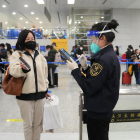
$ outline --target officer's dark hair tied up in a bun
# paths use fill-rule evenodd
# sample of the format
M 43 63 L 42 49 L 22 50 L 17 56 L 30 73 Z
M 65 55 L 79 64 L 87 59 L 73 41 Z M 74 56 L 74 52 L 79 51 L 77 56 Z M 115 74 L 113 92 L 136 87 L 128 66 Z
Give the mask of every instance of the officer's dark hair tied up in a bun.
M 105 25 L 107 26 L 105 27 Z M 94 24 L 90 29 L 90 31 L 102 31 L 104 27 L 105 27 L 104 31 L 111 29 L 116 31 L 117 26 L 119 26 L 118 22 L 115 19 L 112 19 L 109 23 L 100 22 L 98 24 Z M 108 43 L 113 42 L 115 38 L 115 34 L 113 32 L 103 33 L 101 36 L 99 34 L 98 37 L 100 36 L 101 38 L 103 35 L 106 37 Z

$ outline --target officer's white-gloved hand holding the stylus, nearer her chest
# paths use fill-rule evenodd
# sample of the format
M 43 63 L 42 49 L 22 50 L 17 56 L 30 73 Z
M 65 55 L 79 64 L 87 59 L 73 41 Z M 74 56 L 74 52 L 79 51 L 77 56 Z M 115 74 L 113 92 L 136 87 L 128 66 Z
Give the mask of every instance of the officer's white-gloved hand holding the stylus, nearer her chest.
M 88 65 L 87 65 L 87 58 L 85 57 L 85 55 L 84 55 L 84 54 L 82 54 L 82 55 L 77 55 L 77 57 L 78 57 L 78 59 L 79 59 L 79 62 L 80 62 L 80 64 L 81 64 L 82 68 L 83 68 L 84 70 L 86 70 L 87 67 L 88 67 Z

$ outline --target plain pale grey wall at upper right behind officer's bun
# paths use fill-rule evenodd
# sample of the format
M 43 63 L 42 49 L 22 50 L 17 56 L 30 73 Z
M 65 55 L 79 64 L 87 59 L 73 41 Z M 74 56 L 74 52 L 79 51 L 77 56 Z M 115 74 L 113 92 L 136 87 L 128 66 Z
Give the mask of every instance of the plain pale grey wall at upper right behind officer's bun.
M 113 42 L 114 46 L 122 46 L 124 53 L 128 45 L 132 45 L 134 49 L 138 49 L 140 45 L 140 10 L 138 9 L 113 9 L 112 18 L 119 23 L 115 33 L 116 38 Z

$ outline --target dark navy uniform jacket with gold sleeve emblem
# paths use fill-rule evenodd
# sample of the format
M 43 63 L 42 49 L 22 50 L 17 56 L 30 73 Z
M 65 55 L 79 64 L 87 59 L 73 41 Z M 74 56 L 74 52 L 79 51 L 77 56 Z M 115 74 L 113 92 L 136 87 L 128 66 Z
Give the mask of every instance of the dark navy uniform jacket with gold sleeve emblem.
M 118 97 L 120 86 L 120 63 L 109 45 L 94 54 L 91 67 L 83 72 L 77 68 L 72 75 L 84 92 L 84 106 L 93 114 L 93 118 L 105 118 L 112 113 Z

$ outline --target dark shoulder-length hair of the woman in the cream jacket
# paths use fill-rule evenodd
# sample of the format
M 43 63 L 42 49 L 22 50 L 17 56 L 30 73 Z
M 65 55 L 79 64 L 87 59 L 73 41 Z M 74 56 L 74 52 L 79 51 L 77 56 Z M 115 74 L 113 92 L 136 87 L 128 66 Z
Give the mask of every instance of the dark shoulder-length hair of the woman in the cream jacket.
M 20 51 L 25 50 L 24 43 L 25 43 L 25 40 L 26 40 L 29 33 L 32 33 L 33 36 L 34 36 L 34 39 L 35 39 L 35 35 L 31 30 L 21 31 L 21 33 L 19 34 L 19 37 L 18 37 L 18 41 L 16 43 L 16 49 L 15 50 L 20 50 Z M 35 48 L 36 48 L 36 45 L 34 46 L 34 50 L 35 50 Z

